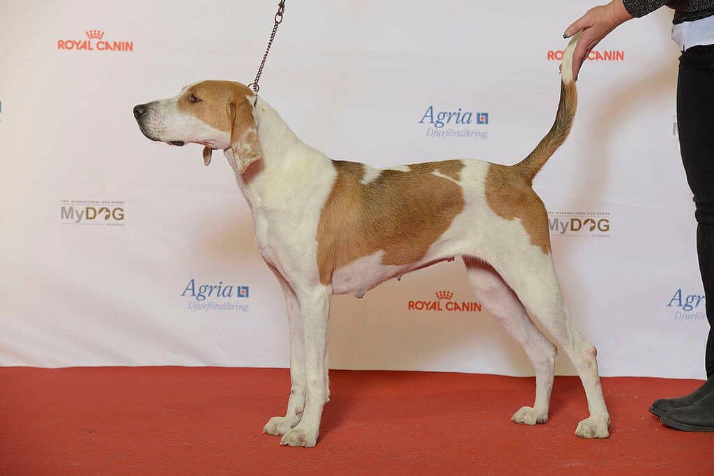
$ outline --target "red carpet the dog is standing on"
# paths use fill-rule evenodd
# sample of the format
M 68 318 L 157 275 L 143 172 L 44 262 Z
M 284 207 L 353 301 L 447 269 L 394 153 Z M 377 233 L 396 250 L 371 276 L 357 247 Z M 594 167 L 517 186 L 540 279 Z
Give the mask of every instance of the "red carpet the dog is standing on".
M 605 378 L 610 439 L 580 440 L 577 378 L 555 379 L 550 422 L 509 418 L 532 378 L 331 372 L 313 449 L 261 430 L 285 410 L 288 371 L 243 368 L 0 368 L 0 474 L 712 475 L 714 433 L 663 427 L 655 397 L 694 380 Z

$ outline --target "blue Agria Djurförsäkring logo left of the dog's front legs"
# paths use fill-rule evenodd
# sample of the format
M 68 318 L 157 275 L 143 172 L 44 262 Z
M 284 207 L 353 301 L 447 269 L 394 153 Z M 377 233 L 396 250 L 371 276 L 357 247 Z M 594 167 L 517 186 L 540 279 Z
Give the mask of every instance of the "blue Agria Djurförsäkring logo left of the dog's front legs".
M 186 308 L 190 310 L 238 310 L 247 313 L 251 289 L 246 285 L 230 283 L 202 284 L 191 278 L 181 291 L 181 297 L 188 299 Z

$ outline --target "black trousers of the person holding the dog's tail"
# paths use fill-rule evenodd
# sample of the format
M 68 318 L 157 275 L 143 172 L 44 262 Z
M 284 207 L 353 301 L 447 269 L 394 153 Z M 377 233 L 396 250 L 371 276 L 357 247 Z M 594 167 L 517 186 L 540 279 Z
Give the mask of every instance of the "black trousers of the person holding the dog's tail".
M 694 194 L 699 269 L 709 320 L 705 365 L 714 374 L 714 45 L 679 59 L 677 124 L 682 161 Z

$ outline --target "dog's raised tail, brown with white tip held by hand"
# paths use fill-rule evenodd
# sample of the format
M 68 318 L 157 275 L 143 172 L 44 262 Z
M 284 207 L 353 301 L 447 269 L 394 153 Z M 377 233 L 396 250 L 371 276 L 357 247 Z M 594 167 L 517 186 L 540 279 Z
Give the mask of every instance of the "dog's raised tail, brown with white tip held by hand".
M 528 180 L 533 180 L 535 174 L 540 171 L 550 156 L 565 142 L 565 138 L 570 133 L 570 127 L 573 126 L 575 109 L 578 106 L 578 92 L 575 91 L 575 81 L 573 80 L 573 50 L 575 50 L 575 44 L 578 43 L 579 37 L 578 33 L 570 40 L 563 54 L 563 63 L 560 64 L 560 102 L 558 102 L 558 112 L 555 113 L 553 126 L 535 146 L 533 152 L 529 153 L 523 161 L 514 165 Z

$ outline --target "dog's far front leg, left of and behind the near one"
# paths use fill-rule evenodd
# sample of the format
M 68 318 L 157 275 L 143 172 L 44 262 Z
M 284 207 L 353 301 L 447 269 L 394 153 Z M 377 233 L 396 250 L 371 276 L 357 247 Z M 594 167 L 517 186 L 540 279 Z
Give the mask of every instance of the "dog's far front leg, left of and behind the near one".
M 285 435 L 300 422 L 305 408 L 305 341 L 298 298 L 286 280 L 277 271 L 274 272 L 283 288 L 290 324 L 290 397 L 285 416 L 272 417 L 263 427 L 263 432 L 269 435 Z

